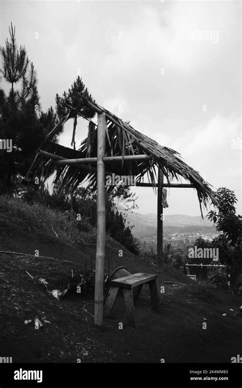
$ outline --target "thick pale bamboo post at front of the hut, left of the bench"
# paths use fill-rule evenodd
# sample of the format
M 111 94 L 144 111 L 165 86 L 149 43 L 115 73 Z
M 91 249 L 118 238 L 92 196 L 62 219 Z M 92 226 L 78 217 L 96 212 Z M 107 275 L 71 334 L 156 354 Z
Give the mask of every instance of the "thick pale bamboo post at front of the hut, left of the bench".
M 104 284 L 104 258 L 105 258 L 105 155 L 106 119 L 105 114 L 98 115 L 98 228 L 96 236 L 96 266 L 95 266 L 95 300 L 94 300 L 94 323 L 103 324 L 103 284 Z

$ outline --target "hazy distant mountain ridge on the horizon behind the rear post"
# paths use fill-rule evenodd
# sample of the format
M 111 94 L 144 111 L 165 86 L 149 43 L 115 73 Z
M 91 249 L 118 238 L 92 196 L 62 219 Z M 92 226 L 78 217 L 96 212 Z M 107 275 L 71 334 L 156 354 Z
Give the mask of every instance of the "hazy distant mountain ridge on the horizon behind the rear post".
M 129 212 L 126 223 L 128 225 L 134 225 L 132 233 L 135 237 L 149 236 L 156 233 L 157 230 L 157 215 L 155 213 L 140 214 L 137 212 Z M 200 215 L 191 216 L 186 214 L 171 214 L 165 215 L 164 221 L 164 233 L 172 233 L 172 231 L 178 231 L 181 227 L 196 226 L 196 230 L 201 227 L 201 230 L 212 231 L 215 228 L 207 218 L 204 220 Z M 173 228 L 174 227 L 174 228 Z M 209 228 L 207 228 L 209 227 Z M 211 229 L 210 229 L 211 228 Z M 190 228 L 185 228 L 184 231 L 189 232 Z M 191 228 L 192 230 L 192 228 Z

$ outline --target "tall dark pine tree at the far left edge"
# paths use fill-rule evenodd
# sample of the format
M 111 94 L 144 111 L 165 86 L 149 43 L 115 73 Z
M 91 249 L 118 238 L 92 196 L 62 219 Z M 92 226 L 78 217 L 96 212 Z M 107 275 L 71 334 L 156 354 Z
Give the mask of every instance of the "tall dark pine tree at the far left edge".
M 16 45 L 15 27 L 9 27 L 10 40 L 2 47 L 0 68 L 3 78 L 10 83 L 9 93 L 0 89 L 0 139 L 11 141 L 9 152 L 0 149 L 0 192 L 11 192 L 19 178 L 30 167 L 35 151 L 44 140 L 44 120 L 55 121 L 53 111 L 37 116 L 40 111 L 37 78 L 34 65 L 30 62 L 25 46 Z M 3 141 L 4 140 L 4 141 Z

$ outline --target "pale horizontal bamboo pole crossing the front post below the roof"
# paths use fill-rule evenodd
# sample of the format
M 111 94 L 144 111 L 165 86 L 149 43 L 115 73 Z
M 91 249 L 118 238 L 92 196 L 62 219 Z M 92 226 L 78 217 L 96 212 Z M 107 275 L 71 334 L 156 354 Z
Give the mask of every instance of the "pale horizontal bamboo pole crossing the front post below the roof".
M 136 161 L 136 160 L 150 160 L 152 159 L 152 155 L 124 155 L 124 156 L 104 156 L 104 162 L 121 162 L 125 161 Z M 97 161 L 97 158 L 77 158 L 77 159 L 61 159 L 57 160 L 57 165 L 62 164 L 79 164 L 79 163 L 94 163 Z

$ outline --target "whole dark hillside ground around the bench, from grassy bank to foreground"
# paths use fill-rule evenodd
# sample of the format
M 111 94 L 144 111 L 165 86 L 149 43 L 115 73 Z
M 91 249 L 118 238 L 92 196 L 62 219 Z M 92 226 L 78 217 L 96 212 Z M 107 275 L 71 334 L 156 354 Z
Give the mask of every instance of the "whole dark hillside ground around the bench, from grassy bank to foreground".
M 38 226 L 36 220 L 27 223 L 24 213 L 20 220 L 12 206 L 9 210 L 6 204 L 0 206 L 0 250 L 33 254 L 38 249 L 39 255 L 55 259 L 0 255 L 1 356 L 12 356 L 13 362 L 160 362 L 161 358 L 165 362 L 230 362 L 241 353 L 242 319 L 234 313 L 242 299 L 227 290 L 200 286 L 171 269 L 164 271 L 164 280 L 182 284 L 165 285 L 160 313 L 151 310 L 148 287 L 144 286 L 135 307 L 136 329 L 126 325 L 122 295 L 103 327 L 95 327 L 93 292 L 67 293 L 61 300 L 47 292 L 65 286 L 71 269 L 74 275 L 83 273 L 86 260 L 90 268 L 92 259 L 94 268 L 93 242 L 87 234 L 76 246 L 68 244 L 64 234 L 60 241 L 51 229 L 45 229 L 44 220 L 43 228 L 42 221 Z M 53 229 L 61 234 L 57 224 Z M 123 257 L 118 256 L 119 249 Z M 126 265 L 131 273 L 155 272 L 148 260 L 141 261 L 110 238 L 106 272 L 108 257 L 110 271 Z M 47 290 L 40 278 L 47 282 Z M 43 325 L 39 329 L 35 329 L 36 318 Z M 123 330 L 118 328 L 120 322 Z

